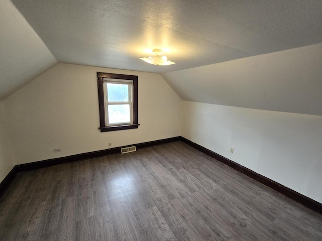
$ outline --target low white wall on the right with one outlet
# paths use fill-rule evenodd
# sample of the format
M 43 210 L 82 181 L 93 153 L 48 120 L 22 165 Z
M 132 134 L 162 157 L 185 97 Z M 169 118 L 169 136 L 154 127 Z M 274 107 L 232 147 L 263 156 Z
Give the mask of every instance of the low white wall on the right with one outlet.
M 183 137 L 322 203 L 322 116 L 190 101 L 182 108 Z

